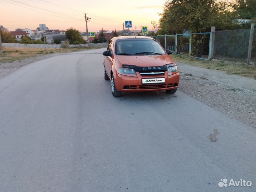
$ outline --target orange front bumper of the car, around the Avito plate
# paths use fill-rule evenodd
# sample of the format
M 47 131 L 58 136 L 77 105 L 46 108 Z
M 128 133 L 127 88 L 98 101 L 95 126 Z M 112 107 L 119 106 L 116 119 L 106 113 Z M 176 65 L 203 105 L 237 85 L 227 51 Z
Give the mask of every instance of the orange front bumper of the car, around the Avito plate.
M 121 75 L 116 73 L 115 85 L 118 91 L 164 91 L 177 89 L 180 81 L 180 73 L 168 76 L 168 71 L 164 75 L 148 75 L 142 76 L 140 73 L 136 72 L 137 77 L 131 77 L 126 75 Z M 142 84 L 142 79 L 144 78 L 165 78 L 164 84 Z

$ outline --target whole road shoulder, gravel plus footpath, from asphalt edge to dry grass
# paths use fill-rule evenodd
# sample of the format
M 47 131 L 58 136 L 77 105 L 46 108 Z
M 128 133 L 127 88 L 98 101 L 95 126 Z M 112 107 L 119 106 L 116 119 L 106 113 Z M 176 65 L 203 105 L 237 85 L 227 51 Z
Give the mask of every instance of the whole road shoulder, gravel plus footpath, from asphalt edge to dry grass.
M 179 90 L 256 128 L 256 80 L 176 62 Z

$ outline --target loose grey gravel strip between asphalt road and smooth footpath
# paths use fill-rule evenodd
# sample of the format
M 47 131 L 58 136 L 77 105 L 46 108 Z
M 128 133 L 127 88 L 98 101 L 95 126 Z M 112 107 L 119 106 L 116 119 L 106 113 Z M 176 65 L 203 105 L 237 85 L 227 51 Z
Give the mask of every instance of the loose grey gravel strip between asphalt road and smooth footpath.
M 256 128 L 256 91 L 207 79 L 200 74 L 180 72 L 178 90 Z

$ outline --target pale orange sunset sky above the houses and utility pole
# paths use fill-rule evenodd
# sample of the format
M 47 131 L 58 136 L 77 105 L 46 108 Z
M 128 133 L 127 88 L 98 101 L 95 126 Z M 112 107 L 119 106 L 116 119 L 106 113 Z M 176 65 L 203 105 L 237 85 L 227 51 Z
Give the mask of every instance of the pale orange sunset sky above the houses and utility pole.
M 85 18 L 90 17 L 90 31 L 122 30 L 123 22 L 132 20 L 131 30 L 141 30 L 148 26 L 152 30 L 151 21 L 159 21 L 165 0 L 0 0 L 0 25 L 9 31 L 16 28 L 39 27 L 46 23 L 49 29 L 66 30 L 73 27 L 85 32 Z

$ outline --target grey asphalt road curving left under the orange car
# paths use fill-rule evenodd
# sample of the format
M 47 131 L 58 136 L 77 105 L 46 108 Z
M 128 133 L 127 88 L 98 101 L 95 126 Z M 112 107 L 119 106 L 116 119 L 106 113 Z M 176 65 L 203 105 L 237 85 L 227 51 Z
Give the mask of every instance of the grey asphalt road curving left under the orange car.
M 256 191 L 254 128 L 180 91 L 114 98 L 103 50 L 0 79 L 1 192 Z

